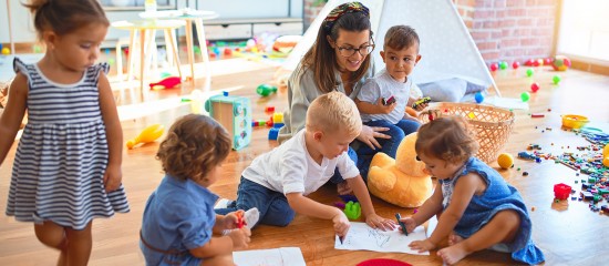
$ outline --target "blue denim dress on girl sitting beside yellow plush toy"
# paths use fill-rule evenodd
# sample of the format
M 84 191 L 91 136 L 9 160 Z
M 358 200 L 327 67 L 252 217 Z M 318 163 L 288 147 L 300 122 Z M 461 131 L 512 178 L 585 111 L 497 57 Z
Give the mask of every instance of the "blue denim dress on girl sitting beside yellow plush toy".
M 467 160 L 465 166 L 452 180 L 438 180 L 444 196 L 444 209 L 451 204 L 451 196 L 456 181 L 468 173 L 479 174 L 486 182 L 486 191 L 474 195 L 454 232 L 463 238 L 472 236 L 488 223 L 495 214 L 504 209 L 514 209 L 520 214 L 520 231 L 514 242 L 505 243 L 512 258 L 527 264 L 539 264 L 545 260 L 541 250 L 530 239 L 531 222 L 520 193 L 507 184 L 503 176 L 476 157 Z

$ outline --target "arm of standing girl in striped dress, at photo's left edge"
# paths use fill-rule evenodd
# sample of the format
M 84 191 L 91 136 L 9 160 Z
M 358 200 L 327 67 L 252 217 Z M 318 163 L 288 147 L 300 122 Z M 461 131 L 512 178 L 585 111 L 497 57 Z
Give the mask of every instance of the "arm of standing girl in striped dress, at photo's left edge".
M 0 116 L 0 165 L 14 142 L 28 101 L 28 78 L 18 73 L 9 89 L 9 102 Z

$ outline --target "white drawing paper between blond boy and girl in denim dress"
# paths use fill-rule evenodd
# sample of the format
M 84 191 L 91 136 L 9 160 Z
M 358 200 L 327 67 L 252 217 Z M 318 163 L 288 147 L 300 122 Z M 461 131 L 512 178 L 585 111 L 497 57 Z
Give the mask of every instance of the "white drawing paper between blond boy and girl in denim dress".
M 372 250 L 381 253 L 409 253 L 415 255 L 430 255 L 429 252 L 419 253 L 412 250 L 409 244 L 413 241 L 425 239 L 425 228 L 419 226 L 414 232 L 404 235 L 398 228 L 394 231 L 383 232 L 373 229 L 365 223 L 351 223 L 351 228 L 344 237 L 343 243 L 340 243 L 339 237 L 334 239 L 334 248 L 348 250 Z

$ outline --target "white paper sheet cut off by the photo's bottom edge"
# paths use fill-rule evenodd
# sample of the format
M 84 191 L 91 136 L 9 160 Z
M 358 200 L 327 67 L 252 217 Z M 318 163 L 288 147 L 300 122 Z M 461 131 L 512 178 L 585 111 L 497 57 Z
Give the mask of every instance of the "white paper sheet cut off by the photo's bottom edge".
M 234 252 L 233 260 L 239 266 L 306 266 L 299 247 L 280 247 Z

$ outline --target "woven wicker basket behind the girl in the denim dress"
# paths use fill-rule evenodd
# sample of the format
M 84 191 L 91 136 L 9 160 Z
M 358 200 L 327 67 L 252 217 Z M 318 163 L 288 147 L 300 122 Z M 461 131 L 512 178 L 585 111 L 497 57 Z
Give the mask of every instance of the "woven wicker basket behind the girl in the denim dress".
M 433 117 L 460 115 L 467 119 L 476 132 L 479 150 L 476 156 L 491 163 L 497 160 L 497 153 L 504 147 L 514 125 L 514 113 L 504 109 L 473 103 L 440 102 L 431 104 L 420 114 L 423 123 Z

